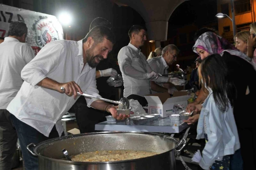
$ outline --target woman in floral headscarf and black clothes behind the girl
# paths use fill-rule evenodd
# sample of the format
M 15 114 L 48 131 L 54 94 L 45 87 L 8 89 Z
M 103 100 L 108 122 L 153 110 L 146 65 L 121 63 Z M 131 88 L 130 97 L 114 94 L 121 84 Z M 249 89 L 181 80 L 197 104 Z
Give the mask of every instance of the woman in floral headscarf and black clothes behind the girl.
M 225 38 L 218 36 L 213 32 L 203 33 L 193 46 L 193 51 L 205 59 L 211 54 L 220 54 L 227 65 L 227 78 L 233 81 L 237 95 L 234 100 L 233 114 L 236 120 L 239 140 L 241 145 L 241 154 L 243 158 L 244 169 L 256 169 L 256 128 L 253 123 L 248 122 L 248 117 L 243 113 L 255 113 L 254 97 L 256 89 L 254 78 L 256 77 L 255 65 L 251 58 L 238 51 Z M 206 99 L 207 93 L 200 91 L 199 96 L 194 103 L 188 105 L 189 111 L 201 110 L 199 104 Z M 231 158 L 232 160 L 232 158 Z M 231 163 L 232 165 L 232 163 Z M 236 166 L 236 165 L 234 165 Z

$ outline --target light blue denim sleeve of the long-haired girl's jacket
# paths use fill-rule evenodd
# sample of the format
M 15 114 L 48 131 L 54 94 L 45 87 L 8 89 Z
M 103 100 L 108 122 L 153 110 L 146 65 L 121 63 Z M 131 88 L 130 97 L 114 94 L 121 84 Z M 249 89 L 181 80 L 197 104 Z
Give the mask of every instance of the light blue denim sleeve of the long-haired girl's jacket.
M 209 130 L 207 130 L 207 132 L 210 132 L 210 134 L 207 133 L 208 142 L 203 149 L 202 159 L 199 163 L 203 169 L 209 169 L 209 167 L 215 162 L 221 147 L 223 147 L 220 141 L 223 138 L 224 123 L 220 114 L 224 113 L 218 109 L 214 101 L 210 103 L 209 108 L 208 115 L 204 116 L 209 117 L 209 122 L 206 122 L 206 124 L 209 124 Z

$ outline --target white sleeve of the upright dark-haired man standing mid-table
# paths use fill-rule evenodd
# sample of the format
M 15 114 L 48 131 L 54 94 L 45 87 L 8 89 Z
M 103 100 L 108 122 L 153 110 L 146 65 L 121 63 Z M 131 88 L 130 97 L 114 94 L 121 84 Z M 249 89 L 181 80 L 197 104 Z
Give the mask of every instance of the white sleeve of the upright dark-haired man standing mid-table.
M 118 53 L 118 64 L 123 74 L 136 78 L 138 80 L 147 80 L 150 78 L 149 73 L 143 73 L 132 66 L 132 54 L 128 48 L 123 48 Z

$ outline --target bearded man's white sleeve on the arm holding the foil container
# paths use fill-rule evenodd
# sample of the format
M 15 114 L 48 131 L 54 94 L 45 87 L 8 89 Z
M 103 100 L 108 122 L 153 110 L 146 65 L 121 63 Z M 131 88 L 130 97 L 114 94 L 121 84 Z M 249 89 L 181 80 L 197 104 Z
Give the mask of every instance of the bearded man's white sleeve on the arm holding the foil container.
M 84 93 L 92 95 L 92 96 L 96 96 L 96 97 L 101 97 L 99 95 L 99 90 L 97 89 L 97 86 L 96 86 L 96 78 L 95 77 L 96 77 L 96 70 L 95 70 L 95 73 L 93 74 L 93 78 L 92 78 L 92 81 L 91 81 L 89 87 L 84 91 Z M 98 100 L 98 99 L 93 99 L 93 98 L 85 96 L 85 100 L 86 100 L 87 106 L 91 107 L 92 102 L 95 100 Z

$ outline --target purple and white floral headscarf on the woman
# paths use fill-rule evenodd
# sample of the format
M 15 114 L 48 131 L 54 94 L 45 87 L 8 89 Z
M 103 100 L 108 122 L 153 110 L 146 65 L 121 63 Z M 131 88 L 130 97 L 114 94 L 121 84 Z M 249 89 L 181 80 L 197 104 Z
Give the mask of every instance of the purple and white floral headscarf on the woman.
M 193 51 L 200 55 L 196 48 L 200 48 L 202 50 L 207 51 L 209 54 L 220 54 L 223 56 L 223 53 L 226 51 L 230 53 L 231 55 L 238 56 L 240 58 L 243 58 L 245 61 L 252 64 L 254 69 L 256 70 L 256 65 L 254 62 L 252 62 L 252 59 L 245 55 L 245 53 L 240 52 L 237 48 L 235 48 L 232 44 L 228 42 L 227 39 L 218 36 L 217 34 L 213 32 L 206 32 L 203 33 L 197 40 L 195 45 L 193 46 Z

